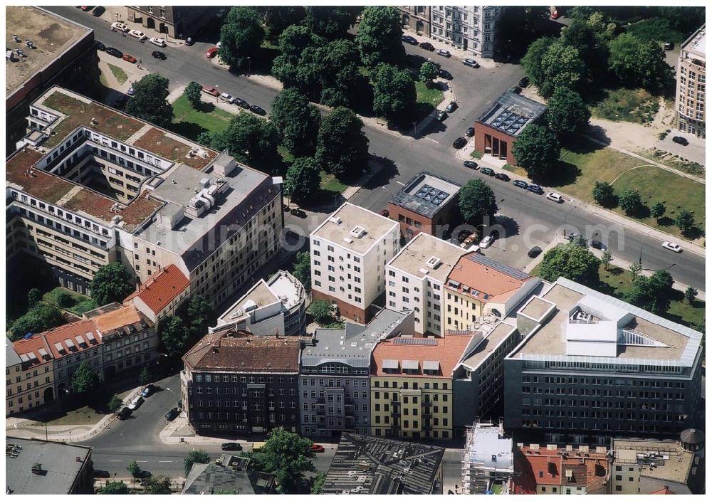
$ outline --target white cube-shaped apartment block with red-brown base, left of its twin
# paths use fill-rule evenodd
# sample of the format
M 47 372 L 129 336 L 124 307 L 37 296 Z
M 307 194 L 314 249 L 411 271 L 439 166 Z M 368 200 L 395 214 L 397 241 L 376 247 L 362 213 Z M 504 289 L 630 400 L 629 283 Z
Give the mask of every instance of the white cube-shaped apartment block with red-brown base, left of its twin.
M 397 221 L 345 203 L 310 235 L 312 297 L 340 315 L 371 320 L 369 306 L 385 292 L 385 267 L 400 250 Z

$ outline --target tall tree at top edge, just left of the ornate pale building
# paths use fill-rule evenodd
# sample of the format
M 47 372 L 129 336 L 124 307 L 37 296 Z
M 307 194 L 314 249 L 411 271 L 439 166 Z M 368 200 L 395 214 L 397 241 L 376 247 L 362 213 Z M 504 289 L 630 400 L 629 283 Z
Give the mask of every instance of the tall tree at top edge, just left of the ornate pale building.
M 363 9 L 356 34 L 362 62 L 373 68 L 378 63 L 402 63 L 405 48 L 401 36 L 401 14 L 393 6 L 368 6 Z

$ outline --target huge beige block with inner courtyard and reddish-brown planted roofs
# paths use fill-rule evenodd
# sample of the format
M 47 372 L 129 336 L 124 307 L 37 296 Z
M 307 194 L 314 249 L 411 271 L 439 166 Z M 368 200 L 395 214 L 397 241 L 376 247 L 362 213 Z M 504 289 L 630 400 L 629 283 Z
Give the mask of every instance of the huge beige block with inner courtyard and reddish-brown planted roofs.
M 175 265 L 217 304 L 278 252 L 270 176 L 147 122 L 53 87 L 30 107 L 6 162 L 6 248 L 89 292 L 118 261 L 145 283 Z

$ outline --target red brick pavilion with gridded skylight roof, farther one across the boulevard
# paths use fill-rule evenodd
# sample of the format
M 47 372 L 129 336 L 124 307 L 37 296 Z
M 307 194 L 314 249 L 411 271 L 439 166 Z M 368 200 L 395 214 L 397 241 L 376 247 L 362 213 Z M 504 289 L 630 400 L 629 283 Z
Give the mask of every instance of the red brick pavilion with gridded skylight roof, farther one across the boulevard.
M 513 146 L 521 132 L 539 122 L 546 106 L 506 90 L 475 120 L 475 149 L 516 165 Z

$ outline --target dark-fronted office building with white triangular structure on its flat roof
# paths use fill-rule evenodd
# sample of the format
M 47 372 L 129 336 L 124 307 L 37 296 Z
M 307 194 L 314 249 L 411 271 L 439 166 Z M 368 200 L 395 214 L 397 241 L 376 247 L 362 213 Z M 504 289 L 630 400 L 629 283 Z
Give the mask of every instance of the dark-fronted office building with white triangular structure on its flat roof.
M 516 316 L 523 341 L 504 361 L 509 431 L 604 445 L 701 422 L 700 332 L 565 278 Z

